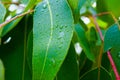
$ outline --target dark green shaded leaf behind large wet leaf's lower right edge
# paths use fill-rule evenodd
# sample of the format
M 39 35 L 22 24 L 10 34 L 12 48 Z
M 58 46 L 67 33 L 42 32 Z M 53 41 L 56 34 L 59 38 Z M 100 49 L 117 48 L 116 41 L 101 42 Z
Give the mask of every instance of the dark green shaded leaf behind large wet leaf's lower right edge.
M 73 44 L 56 78 L 57 80 L 79 80 L 77 56 Z

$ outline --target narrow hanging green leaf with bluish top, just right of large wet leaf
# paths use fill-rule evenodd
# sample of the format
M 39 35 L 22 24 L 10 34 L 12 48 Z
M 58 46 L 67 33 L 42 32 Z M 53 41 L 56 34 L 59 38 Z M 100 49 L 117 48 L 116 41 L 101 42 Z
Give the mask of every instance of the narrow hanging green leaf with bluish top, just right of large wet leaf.
M 75 25 L 75 32 L 78 35 L 80 45 L 83 48 L 87 58 L 91 61 L 95 61 L 95 57 L 90 50 L 89 42 L 87 41 L 87 38 L 85 36 L 85 31 L 80 24 Z

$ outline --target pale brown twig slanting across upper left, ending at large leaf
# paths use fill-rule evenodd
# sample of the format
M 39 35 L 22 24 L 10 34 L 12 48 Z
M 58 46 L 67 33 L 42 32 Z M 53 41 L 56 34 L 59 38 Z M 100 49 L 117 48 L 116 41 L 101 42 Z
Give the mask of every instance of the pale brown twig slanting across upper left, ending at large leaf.
M 28 11 L 28 12 L 22 13 L 22 14 L 20 14 L 20 15 L 17 15 L 17 16 L 15 16 L 15 17 L 11 18 L 10 20 L 7 20 L 7 21 L 3 22 L 2 24 L 0 24 L 0 29 L 1 29 L 2 27 L 4 27 L 5 25 L 7 25 L 8 23 L 12 22 L 13 20 L 16 20 L 17 18 L 20 18 L 20 17 L 22 17 L 22 16 L 24 16 L 24 15 L 26 15 L 26 14 L 30 14 L 30 13 L 32 13 L 32 12 L 34 12 L 34 10 L 30 10 L 30 11 Z

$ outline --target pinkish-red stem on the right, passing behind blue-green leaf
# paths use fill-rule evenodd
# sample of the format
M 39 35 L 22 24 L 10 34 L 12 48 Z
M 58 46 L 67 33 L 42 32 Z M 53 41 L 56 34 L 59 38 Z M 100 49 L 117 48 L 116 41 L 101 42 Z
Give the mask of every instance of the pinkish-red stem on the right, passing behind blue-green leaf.
M 101 30 L 100 30 L 100 28 L 99 28 L 99 25 L 97 24 L 97 21 L 96 21 L 96 17 L 93 16 L 93 19 L 94 19 L 94 23 L 95 23 L 96 29 L 97 29 L 97 31 L 98 31 L 98 33 L 99 33 L 99 35 L 100 35 L 100 38 L 101 38 L 102 42 L 104 42 L 104 38 L 103 38 L 102 32 L 101 32 Z M 114 74 L 115 74 L 115 76 L 116 76 L 116 80 L 120 80 L 120 77 L 119 77 L 119 74 L 118 74 L 116 65 L 115 65 L 115 63 L 114 63 L 114 61 L 113 61 L 113 59 L 112 59 L 112 56 L 111 56 L 111 54 L 110 54 L 110 51 L 107 51 L 107 56 L 108 56 L 108 58 L 109 58 L 109 61 L 110 61 L 110 64 L 111 64 L 111 66 L 112 66 L 112 69 L 113 69 L 113 71 L 114 71 Z

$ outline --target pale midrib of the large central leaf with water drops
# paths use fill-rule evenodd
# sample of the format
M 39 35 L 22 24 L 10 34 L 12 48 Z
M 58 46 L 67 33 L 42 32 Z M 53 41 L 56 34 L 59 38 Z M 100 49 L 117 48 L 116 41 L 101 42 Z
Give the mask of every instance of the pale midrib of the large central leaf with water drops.
M 52 40 L 52 35 L 53 35 L 53 16 L 52 16 L 52 10 L 51 10 L 51 7 L 50 7 L 50 3 L 49 3 L 49 0 L 45 0 L 47 2 L 47 6 L 48 6 L 48 11 L 50 13 L 50 38 L 49 38 L 49 41 L 48 41 L 48 44 L 47 44 L 47 49 L 46 49 L 46 52 L 45 52 L 45 58 L 44 58 L 44 62 L 43 62 L 43 67 L 42 67 L 42 71 L 41 71 L 41 76 L 40 76 L 40 80 L 42 79 L 42 75 L 43 75 L 43 72 L 44 72 L 44 68 L 45 68 L 45 63 L 46 63 L 46 59 L 47 59 L 47 55 L 48 55 L 48 50 L 49 50 L 49 46 L 50 46 L 50 43 L 51 43 L 51 40 Z

